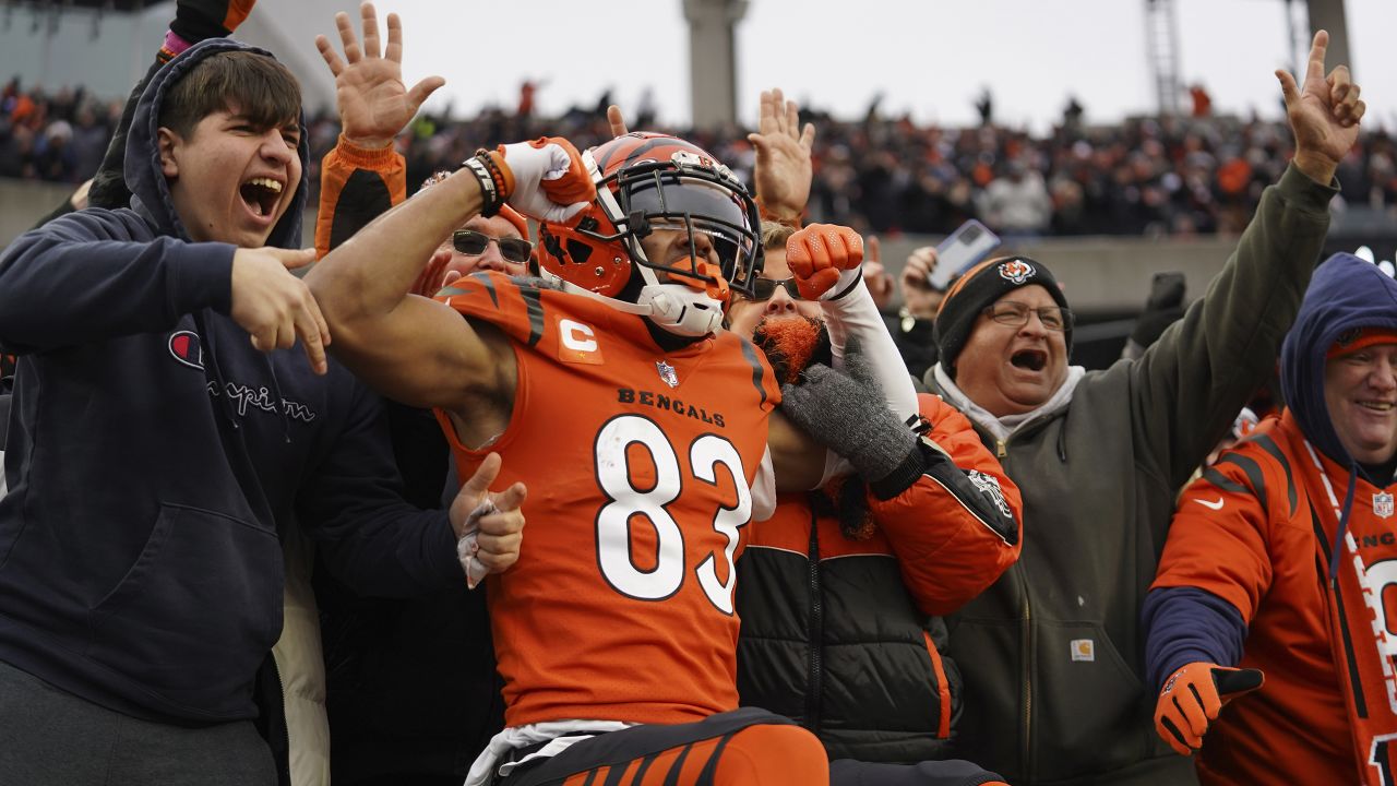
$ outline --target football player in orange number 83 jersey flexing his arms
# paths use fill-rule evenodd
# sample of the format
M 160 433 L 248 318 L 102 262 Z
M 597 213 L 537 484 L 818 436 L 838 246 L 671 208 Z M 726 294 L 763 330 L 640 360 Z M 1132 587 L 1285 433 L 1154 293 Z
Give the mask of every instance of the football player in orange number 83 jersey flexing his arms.
M 451 229 L 506 203 L 543 222 L 550 284 L 485 271 L 439 301 L 408 294 Z M 307 277 L 339 357 L 437 408 L 462 471 L 489 446 L 538 484 L 539 531 L 489 587 L 509 727 L 471 783 L 595 768 L 826 782 L 813 736 L 735 710 L 733 559 L 771 506 L 759 467 L 770 452 L 791 488 L 824 470 L 824 450 L 773 417 L 766 361 L 715 333 L 729 292 L 752 292 L 757 227 L 742 185 L 683 140 L 631 134 L 583 157 L 549 138 L 482 151 Z M 826 271 L 826 295 L 861 281 L 856 262 Z

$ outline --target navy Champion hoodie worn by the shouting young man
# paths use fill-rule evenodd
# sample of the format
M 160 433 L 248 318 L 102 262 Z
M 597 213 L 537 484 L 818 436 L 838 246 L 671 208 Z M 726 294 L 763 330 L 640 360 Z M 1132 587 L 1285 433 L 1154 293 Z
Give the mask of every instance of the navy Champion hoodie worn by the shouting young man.
M 257 715 L 289 530 L 366 594 L 461 580 L 446 515 L 401 501 L 381 400 L 334 361 L 312 373 L 299 344 L 253 350 L 228 316 L 236 249 L 191 243 L 175 213 L 159 106 L 232 49 L 251 48 L 211 39 L 151 78 L 127 140 L 129 208 L 64 215 L 0 256 L 0 344 L 20 354 L 0 660 L 189 726 Z M 299 246 L 306 190 L 268 245 Z

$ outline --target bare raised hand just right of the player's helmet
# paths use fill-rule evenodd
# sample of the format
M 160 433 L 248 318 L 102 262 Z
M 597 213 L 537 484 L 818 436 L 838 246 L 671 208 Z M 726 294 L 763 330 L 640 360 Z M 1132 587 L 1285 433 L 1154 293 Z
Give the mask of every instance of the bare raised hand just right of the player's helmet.
M 800 129 L 799 108 L 785 99 L 781 88 L 764 90 L 757 133 L 747 134 L 747 141 L 757 150 L 752 179 L 763 217 L 784 224 L 798 222 L 810 200 L 810 182 L 814 179 L 810 164 L 814 126 L 806 123 Z

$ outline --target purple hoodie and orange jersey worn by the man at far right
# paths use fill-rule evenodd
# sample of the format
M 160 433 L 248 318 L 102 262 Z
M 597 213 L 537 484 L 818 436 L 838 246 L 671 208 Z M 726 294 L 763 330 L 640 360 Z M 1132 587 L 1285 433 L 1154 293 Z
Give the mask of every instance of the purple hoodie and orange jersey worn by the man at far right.
M 1393 478 L 1344 449 L 1324 400 L 1326 354 L 1359 327 L 1397 330 L 1397 281 L 1336 255 L 1281 350 L 1288 410 L 1204 470 L 1179 501 L 1144 606 L 1150 684 L 1217 663 L 1266 684 L 1229 703 L 1199 757 L 1204 782 L 1389 783 L 1397 677 Z M 1303 719 L 1298 729 L 1295 719 Z M 1289 744 L 1287 744 L 1289 743 Z

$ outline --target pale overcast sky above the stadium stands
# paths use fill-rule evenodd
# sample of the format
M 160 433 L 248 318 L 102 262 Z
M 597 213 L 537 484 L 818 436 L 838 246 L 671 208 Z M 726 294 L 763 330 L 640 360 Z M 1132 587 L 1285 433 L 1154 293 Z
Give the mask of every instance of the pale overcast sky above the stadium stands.
M 1347 0 L 1350 52 L 1369 117 L 1397 126 L 1397 0 Z M 346 3 L 348 6 L 348 3 Z M 380 0 L 407 28 L 407 76 L 437 73 L 433 106 L 513 108 L 524 78 L 545 80 L 539 109 L 591 106 L 606 88 L 634 108 L 645 88 L 665 122 L 689 119 L 689 38 L 680 0 Z M 1299 36 L 1303 0 L 1295 3 Z M 1180 74 L 1203 83 L 1220 112 L 1280 115 L 1271 71 L 1303 63 L 1287 48 L 1282 0 L 1176 0 Z M 258 13 L 271 10 L 258 6 Z M 443 10 L 458 22 L 444 24 Z M 483 35 L 467 35 L 475 20 Z M 541 20 L 546 20 L 541 21 Z M 536 32 L 532 32 L 536 31 Z M 559 31 L 570 31 L 564 38 Z M 511 32 L 514 35 L 502 35 Z M 514 41 L 513 48 L 506 41 Z M 1088 122 L 1153 112 L 1144 0 L 752 0 L 738 32 L 739 112 L 780 85 L 803 102 L 861 116 L 883 109 L 967 124 L 982 87 L 996 117 L 1042 129 L 1069 94 Z

